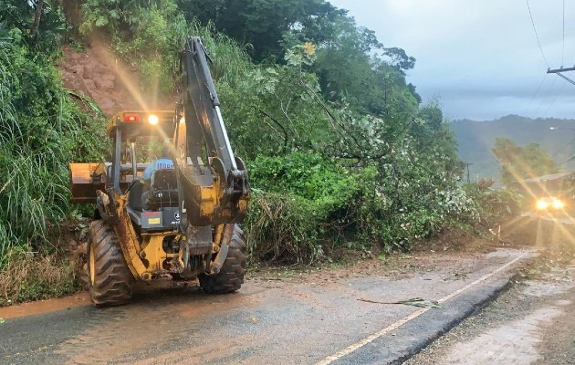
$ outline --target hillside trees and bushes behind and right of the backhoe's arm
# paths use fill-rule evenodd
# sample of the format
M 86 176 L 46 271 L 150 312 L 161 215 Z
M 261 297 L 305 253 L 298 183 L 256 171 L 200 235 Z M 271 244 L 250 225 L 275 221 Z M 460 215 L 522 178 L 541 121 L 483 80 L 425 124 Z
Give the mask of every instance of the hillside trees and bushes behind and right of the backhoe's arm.
M 204 36 L 255 188 L 253 258 L 312 262 L 333 245 L 407 249 L 474 215 L 456 184 L 453 135 L 439 107 L 420 105 L 405 82 L 414 59 L 402 49 L 324 1 L 163 3 L 87 1 L 79 29 L 141 57 L 134 64 L 166 90 L 174 61 L 162 55 L 175 55 L 186 34 Z

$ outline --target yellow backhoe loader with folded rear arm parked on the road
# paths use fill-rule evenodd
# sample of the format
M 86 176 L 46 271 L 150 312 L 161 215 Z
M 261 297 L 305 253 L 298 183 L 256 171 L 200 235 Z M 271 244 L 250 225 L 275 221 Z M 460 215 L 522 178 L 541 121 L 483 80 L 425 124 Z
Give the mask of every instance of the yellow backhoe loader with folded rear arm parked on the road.
M 228 141 L 208 59 L 202 40 L 188 36 L 175 111 L 120 111 L 107 125 L 111 161 L 70 164 L 72 203 L 96 204 L 88 250 L 96 306 L 126 303 L 136 280 L 197 277 L 207 293 L 244 282 L 246 165 Z M 143 179 L 164 144 L 173 166 Z

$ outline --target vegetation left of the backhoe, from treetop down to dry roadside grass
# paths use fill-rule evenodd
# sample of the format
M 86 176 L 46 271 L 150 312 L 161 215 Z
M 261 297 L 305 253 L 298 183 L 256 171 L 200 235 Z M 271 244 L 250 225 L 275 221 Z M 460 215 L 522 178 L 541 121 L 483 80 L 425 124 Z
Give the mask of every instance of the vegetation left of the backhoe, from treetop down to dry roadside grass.
M 76 290 L 58 250 L 70 213 L 68 162 L 100 158 L 99 120 L 62 88 L 57 7 L 0 1 L 0 305 Z

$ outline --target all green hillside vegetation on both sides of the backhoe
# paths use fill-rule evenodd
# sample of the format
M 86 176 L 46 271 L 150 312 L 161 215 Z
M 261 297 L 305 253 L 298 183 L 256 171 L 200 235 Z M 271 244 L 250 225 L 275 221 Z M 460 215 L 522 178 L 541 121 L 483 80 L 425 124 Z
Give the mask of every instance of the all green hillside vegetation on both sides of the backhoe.
M 0 257 L 46 241 L 69 213 L 68 162 L 101 152 L 98 120 L 70 101 L 53 66 L 71 36 L 104 39 L 146 75 L 143 87 L 162 92 L 176 88 L 183 37 L 204 37 L 231 141 L 250 172 L 253 260 L 406 250 L 479 218 L 457 183 L 461 164 L 441 109 L 422 105 L 405 81 L 415 59 L 384 47 L 345 10 L 324 0 L 80 3 L 0 0 L 8 9 L 0 17 Z

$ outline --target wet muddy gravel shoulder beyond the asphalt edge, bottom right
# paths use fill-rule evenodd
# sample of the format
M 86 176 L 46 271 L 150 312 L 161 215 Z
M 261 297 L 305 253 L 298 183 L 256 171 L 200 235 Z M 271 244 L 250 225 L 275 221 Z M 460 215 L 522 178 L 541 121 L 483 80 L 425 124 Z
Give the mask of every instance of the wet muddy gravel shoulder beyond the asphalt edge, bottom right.
M 575 263 L 545 264 L 404 364 L 574 364 Z

